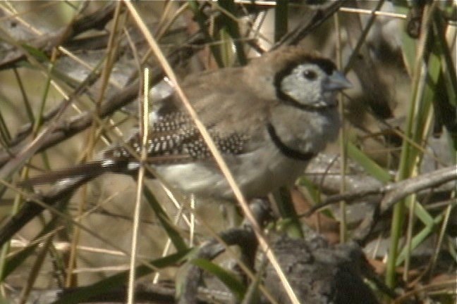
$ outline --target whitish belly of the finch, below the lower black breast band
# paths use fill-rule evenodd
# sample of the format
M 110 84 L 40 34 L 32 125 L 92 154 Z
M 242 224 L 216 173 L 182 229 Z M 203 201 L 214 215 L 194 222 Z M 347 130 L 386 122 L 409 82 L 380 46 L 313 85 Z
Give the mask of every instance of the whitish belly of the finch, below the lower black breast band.
M 286 158 L 274 147 L 226 158 L 227 165 L 246 198 L 266 196 L 279 186 L 291 184 L 303 173 L 307 162 Z M 233 191 L 217 165 L 198 162 L 158 166 L 157 172 L 171 186 L 186 194 L 232 199 Z

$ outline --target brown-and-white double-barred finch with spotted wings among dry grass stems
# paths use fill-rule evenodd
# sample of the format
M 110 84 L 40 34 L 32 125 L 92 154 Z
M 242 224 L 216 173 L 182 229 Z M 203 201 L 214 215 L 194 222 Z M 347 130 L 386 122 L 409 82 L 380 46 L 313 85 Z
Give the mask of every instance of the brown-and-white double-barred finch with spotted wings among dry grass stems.
M 293 182 L 307 161 L 339 130 L 336 92 L 351 84 L 334 63 L 298 46 L 288 46 L 238 68 L 191 75 L 182 87 L 224 156 L 246 197 L 265 196 Z M 148 163 L 171 186 L 204 196 L 231 198 L 232 191 L 200 132 L 178 97 L 152 115 Z M 30 179 L 30 184 L 130 173 L 140 151 L 134 135 L 100 160 Z

